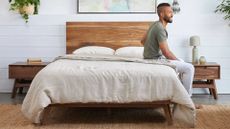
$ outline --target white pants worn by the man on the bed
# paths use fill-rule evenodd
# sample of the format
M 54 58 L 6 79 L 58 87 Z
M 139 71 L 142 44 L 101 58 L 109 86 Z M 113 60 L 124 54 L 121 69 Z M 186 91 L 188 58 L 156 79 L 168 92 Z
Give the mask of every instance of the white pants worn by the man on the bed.
M 170 60 L 170 62 L 176 66 L 177 72 L 179 72 L 180 80 L 188 91 L 189 95 L 192 96 L 192 82 L 194 77 L 194 66 L 190 63 L 179 60 Z

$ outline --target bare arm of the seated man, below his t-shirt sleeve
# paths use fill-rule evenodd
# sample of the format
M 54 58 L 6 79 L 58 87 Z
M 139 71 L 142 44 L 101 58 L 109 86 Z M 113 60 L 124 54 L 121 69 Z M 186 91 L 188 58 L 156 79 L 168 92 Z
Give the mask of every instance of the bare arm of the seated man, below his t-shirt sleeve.
M 167 43 L 166 41 L 165 41 L 165 42 L 159 43 L 159 48 L 161 49 L 162 54 L 163 54 L 167 59 L 170 59 L 170 60 L 178 60 L 178 59 L 176 58 L 176 56 L 169 50 L 168 43 Z

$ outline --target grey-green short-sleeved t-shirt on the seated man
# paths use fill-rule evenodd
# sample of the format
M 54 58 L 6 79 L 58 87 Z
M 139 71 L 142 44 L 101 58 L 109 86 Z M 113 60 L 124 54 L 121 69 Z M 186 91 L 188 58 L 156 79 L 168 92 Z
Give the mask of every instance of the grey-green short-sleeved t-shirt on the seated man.
M 145 59 L 158 59 L 161 58 L 162 52 L 159 48 L 159 44 L 168 39 L 168 32 L 163 27 L 160 21 L 154 22 L 150 27 L 146 35 L 144 44 L 144 58 Z

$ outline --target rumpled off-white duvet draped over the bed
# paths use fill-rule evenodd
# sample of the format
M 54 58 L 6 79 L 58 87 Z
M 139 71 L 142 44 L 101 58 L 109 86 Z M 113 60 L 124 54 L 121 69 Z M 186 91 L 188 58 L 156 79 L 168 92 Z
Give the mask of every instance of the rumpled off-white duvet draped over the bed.
M 67 55 L 42 69 L 22 104 L 23 114 L 40 123 L 45 107 L 74 102 L 151 102 L 171 100 L 173 115 L 190 127 L 194 104 L 167 61 Z

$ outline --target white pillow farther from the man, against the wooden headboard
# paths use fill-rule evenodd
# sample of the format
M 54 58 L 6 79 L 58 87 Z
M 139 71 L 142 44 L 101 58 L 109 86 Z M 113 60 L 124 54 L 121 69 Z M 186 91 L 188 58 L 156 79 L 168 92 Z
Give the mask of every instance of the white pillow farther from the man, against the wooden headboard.
M 114 55 L 115 50 L 109 47 L 87 46 L 73 51 L 73 54 Z

